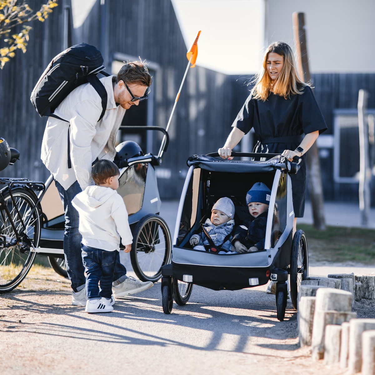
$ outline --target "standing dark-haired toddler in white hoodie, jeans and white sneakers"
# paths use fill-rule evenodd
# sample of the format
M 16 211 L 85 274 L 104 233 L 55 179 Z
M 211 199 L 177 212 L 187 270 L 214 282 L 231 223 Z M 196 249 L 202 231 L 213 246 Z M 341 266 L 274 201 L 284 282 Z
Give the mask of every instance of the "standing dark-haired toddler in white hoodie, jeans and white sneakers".
M 117 193 L 120 172 L 110 160 L 99 160 L 92 168 L 95 186 L 88 186 L 72 201 L 80 215 L 82 259 L 86 270 L 86 312 L 113 311 L 113 270 L 120 237 L 124 252 L 131 250 L 133 236 L 123 199 Z M 100 288 L 99 291 L 99 282 Z

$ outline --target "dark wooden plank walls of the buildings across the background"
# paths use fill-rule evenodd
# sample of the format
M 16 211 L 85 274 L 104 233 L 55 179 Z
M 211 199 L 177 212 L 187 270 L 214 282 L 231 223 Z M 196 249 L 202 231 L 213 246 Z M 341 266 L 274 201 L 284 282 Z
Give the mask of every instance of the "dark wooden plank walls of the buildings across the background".
M 40 2 L 28 1 L 33 9 Z M 59 3 L 45 23 L 32 24 L 26 54 L 17 51 L 16 57 L 0 71 L 0 135 L 21 151 L 21 160 L 0 172 L 1 176 L 46 180 L 49 175 L 40 160 L 46 119 L 39 117 L 29 98 L 49 61 L 63 48 L 63 8 L 70 6 L 70 0 Z M 103 10 L 107 12 L 106 22 L 101 22 L 105 16 Z M 101 48 L 108 71 L 115 52 L 141 56 L 159 64 L 152 86 L 153 124 L 166 126 L 187 64 L 186 45 L 170 0 L 106 0 L 106 9 L 98 0 L 83 25 L 72 30 L 72 44 L 80 42 Z M 375 74 L 313 74 L 312 78 L 315 96 L 329 127 L 327 134 L 333 132 L 333 110 L 356 108 L 360 88 L 369 90 L 369 107 L 375 107 Z M 171 178 L 158 181 L 163 198 L 180 196 L 187 157 L 216 151 L 223 144 L 248 96 L 245 83 L 249 79 L 201 67 L 189 70 L 162 166 L 171 170 Z M 160 137 L 155 136 L 155 152 L 159 142 Z M 333 157 L 322 159 L 321 165 L 326 199 L 355 201 L 357 184 L 333 182 Z

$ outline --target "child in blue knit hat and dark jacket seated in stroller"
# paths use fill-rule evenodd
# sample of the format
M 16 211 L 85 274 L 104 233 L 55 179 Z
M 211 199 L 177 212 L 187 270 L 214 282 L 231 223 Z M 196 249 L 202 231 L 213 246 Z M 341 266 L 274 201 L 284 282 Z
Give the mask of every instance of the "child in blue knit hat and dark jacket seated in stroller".
M 270 199 L 271 190 L 263 182 L 256 182 L 246 193 L 246 204 L 251 216 L 234 233 L 232 244 L 237 253 L 264 249 Z

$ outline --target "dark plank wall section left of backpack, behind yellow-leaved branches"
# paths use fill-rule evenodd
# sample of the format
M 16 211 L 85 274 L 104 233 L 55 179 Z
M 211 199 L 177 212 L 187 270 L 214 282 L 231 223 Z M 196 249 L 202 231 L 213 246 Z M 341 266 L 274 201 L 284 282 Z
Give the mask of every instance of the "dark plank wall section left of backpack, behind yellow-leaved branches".
M 31 9 L 40 0 L 28 0 Z M 0 71 L 0 134 L 10 147 L 17 148 L 20 160 L 0 172 L 2 177 L 27 177 L 46 180 L 49 172 L 40 160 L 40 148 L 46 118 L 40 118 L 30 101 L 31 92 L 52 58 L 63 48 L 63 7 L 70 1 L 59 1 L 44 23 L 31 24 L 25 54 L 20 49 Z

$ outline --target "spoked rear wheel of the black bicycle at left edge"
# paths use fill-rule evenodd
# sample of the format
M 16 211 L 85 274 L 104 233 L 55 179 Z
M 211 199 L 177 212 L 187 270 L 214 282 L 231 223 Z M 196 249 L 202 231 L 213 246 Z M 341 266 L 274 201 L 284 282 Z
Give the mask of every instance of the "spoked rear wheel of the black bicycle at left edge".
M 40 205 L 31 213 L 37 202 L 37 197 L 33 191 L 24 188 L 12 189 L 12 195 L 15 203 L 10 198 L 9 191 L 3 193 L 10 217 L 7 216 L 5 208 L 1 209 L 0 234 L 9 237 L 7 242 L 8 240 L 10 242 L 17 240 L 11 225 L 12 220 L 17 231 L 26 234 L 31 244 L 37 247 L 40 239 L 42 217 Z M 22 225 L 16 207 L 26 225 L 26 229 Z M 24 251 L 22 246 L 22 243 L 15 243 L 13 246 L 0 249 L 0 293 L 16 288 L 33 265 L 36 253 Z

